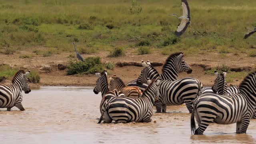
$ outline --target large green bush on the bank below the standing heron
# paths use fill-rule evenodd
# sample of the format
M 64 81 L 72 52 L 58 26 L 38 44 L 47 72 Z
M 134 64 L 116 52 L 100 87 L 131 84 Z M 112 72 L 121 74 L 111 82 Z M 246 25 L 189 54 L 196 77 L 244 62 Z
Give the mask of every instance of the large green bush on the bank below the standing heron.
M 88 57 L 83 62 L 71 62 L 70 65 L 67 66 L 66 74 L 94 74 L 95 70 L 99 72 L 104 70 L 100 57 Z

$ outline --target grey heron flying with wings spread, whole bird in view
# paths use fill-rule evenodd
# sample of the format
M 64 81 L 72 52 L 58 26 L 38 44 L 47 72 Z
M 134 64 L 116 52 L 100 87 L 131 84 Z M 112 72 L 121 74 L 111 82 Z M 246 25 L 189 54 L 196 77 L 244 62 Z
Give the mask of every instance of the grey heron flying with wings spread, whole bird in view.
M 171 16 L 176 16 L 178 19 L 181 19 L 180 25 L 174 32 L 176 36 L 181 36 L 190 24 L 190 9 L 187 0 L 181 0 L 181 6 L 183 11 L 182 16 L 178 17 L 177 14 L 170 14 Z

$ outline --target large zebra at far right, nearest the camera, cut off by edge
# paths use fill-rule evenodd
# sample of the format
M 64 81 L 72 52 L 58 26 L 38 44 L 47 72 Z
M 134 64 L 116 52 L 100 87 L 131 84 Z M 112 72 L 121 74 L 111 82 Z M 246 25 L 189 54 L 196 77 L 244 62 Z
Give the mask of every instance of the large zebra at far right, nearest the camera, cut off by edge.
M 228 96 L 203 94 L 194 100 L 193 105 L 194 109 L 190 119 L 193 134 L 203 134 L 211 122 L 236 123 L 236 133 L 246 133 L 256 106 L 256 71 L 244 78 L 238 93 Z M 198 122 L 197 129 L 194 117 Z

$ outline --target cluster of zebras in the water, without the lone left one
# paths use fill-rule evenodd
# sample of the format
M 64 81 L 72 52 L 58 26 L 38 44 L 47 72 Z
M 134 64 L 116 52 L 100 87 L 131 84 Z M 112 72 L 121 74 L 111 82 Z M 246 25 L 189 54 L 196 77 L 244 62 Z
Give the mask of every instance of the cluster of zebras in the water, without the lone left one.
M 166 112 L 167 105 L 185 104 L 192 113 L 193 134 L 203 134 L 212 122 L 236 123 L 236 132 L 246 133 L 250 119 L 256 118 L 256 72 L 246 76 L 239 87 L 228 87 L 227 73 L 215 71 L 213 86 L 203 87 L 196 78 L 177 80 L 179 72 L 192 72 L 183 55 L 183 52 L 171 54 L 162 67 L 162 74 L 150 64 L 144 64 L 138 79 L 126 85 L 115 75 L 108 77 L 106 71 L 96 74 L 98 79 L 93 91 L 102 94 L 98 123 L 150 122 L 154 105 L 156 112 L 161 113 Z

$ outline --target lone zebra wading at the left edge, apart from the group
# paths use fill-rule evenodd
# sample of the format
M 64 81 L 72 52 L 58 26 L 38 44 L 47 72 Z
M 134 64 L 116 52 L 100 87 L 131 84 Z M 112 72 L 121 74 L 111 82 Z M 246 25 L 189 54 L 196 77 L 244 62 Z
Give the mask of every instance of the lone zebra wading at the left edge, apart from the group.
M 29 73 L 19 70 L 13 76 L 12 84 L 0 84 L 0 108 L 7 108 L 7 111 L 11 111 L 11 108 L 16 106 L 21 111 L 25 110 L 21 104 L 23 100 L 22 90 L 25 94 L 31 92 L 27 78 Z

